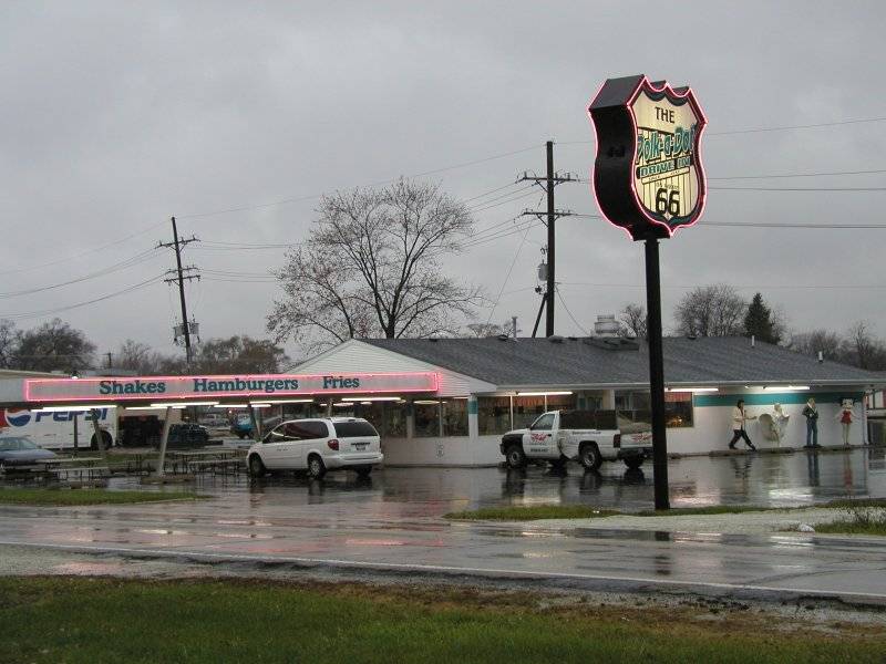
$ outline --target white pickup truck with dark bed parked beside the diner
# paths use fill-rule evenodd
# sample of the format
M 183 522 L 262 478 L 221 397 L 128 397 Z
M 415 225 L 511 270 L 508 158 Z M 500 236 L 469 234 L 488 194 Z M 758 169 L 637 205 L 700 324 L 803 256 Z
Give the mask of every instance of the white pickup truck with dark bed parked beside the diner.
M 571 459 L 587 470 L 615 460 L 635 469 L 652 457 L 651 437 L 622 439 L 618 429 L 597 428 L 598 424 L 591 411 L 552 411 L 539 415 L 529 428 L 506 433 L 499 449 L 509 468 L 523 468 L 535 459 L 563 466 Z

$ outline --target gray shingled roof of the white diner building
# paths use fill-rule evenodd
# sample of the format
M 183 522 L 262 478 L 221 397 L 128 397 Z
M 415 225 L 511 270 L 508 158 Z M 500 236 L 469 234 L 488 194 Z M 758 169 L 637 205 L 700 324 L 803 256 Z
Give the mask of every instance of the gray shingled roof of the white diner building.
M 624 385 L 649 382 L 649 353 L 599 347 L 588 339 L 367 339 L 365 343 L 495 385 Z M 886 384 L 886 374 L 820 363 L 745 338 L 666 338 L 669 384 Z

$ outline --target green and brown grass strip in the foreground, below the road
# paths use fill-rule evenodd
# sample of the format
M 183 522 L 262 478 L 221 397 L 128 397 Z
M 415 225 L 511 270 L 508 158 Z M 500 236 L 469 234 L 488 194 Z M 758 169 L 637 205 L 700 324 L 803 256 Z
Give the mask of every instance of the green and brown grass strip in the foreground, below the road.
M 810 664 L 882 662 L 886 652 L 875 626 L 823 632 L 746 610 L 545 606 L 529 593 L 257 580 L 6 578 L 0 624 L 0 661 L 38 664 Z

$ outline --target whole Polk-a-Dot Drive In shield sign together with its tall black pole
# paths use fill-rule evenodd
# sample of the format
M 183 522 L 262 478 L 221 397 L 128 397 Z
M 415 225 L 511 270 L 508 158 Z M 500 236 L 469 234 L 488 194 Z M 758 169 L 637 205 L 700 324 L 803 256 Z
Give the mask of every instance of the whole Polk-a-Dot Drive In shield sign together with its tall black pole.
M 591 179 L 597 205 L 610 224 L 646 243 L 656 509 L 669 509 L 658 241 L 692 226 L 704 211 L 700 143 L 708 121 L 692 90 L 643 75 L 607 80 L 588 113 L 597 134 Z

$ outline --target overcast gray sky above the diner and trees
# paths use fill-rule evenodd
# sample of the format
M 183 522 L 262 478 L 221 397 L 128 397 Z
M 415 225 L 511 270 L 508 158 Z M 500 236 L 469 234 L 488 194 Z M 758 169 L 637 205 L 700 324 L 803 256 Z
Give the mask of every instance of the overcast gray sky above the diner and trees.
M 171 239 L 176 215 L 184 236 L 204 240 L 185 252 L 204 271 L 187 291 L 202 335 L 265 335 L 277 288 L 243 273 L 277 268 L 284 249 L 222 243 L 297 241 L 317 194 L 529 148 L 426 176 L 473 198 L 543 172 L 548 138 L 556 168 L 587 178 L 586 107 L 611 76 L 693 86 L 710 178 L 886 169 L 886 122 L 717 135 L 886 117 L 885 19 L 883 2 L 833 1 L 6 2 L 0 290 L 107 272 L 3 297 L 0 318 L 30 328 L 58 315 L 100 351 L 126 338 L 172 351 L 177 294 L 162 282 L 62 309 L 171 268 L 172 253 L 152 248 Z M 687 289 L 727 282 L 749 298 L 760 290 L 797 331 L 866 319 L 886 334 L 886 229 L 705 227 L 884 222 L 886 191 L 713 187 L 880 187 L 886 173 L 709 184 L 701 222 L 662 243 L 666 326 Z M 542 191 L 512 200 L 523 194 L 472 200 L 478 231 Z M 584 183 L 558 187 L 557 205 L 597 212 Z M 545 229 L 523 238 L 481 243 L 447 267 L 493 297 L 504 290 L 492 320 L 518 315 L 528 334 Z M 567 218 L 557 242 L 562 293 L 581 326 L 643 301 L 642 247 L 622 231 Z M 581 333 L 562 307 L 557 332 Z

